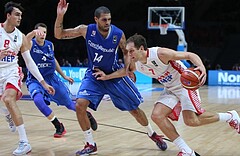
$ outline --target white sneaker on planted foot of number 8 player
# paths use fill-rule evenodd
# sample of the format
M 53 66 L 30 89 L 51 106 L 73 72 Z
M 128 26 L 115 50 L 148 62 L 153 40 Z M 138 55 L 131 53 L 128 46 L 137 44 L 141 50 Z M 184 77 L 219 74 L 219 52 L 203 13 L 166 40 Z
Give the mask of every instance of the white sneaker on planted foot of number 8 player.
M 28 142 L 25 141 L 19 141 L 18 148 L 13 151 L 13 155 L 26 155 L 30 153 L 32 150 L 31 145 Z

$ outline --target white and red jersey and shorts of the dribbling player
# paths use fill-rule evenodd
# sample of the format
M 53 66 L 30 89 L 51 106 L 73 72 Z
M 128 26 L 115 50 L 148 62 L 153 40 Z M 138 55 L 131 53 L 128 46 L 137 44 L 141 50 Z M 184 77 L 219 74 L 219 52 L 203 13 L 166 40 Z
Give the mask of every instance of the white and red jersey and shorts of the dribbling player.
M 136 69 L 164 85 L 158 101 L 172 109 L 168 116 L 172 120 L 178 120 L 181 110 L 190 110 L 202 114 L 201 99 L 198 90 L 191 91 L 182 87 L 180 76 L 187 67 L 181 61 L 169 61 L 164 64 L 157 55 L 159 47 L 147 50 L 147 63 L 136 62 Z

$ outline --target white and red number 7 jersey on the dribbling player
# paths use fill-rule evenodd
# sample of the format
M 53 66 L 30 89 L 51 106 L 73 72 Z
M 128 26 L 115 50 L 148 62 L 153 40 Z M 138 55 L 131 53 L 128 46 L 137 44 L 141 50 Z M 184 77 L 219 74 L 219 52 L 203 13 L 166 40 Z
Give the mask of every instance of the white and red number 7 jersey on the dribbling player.
M 158 58 L 158 48 L 160 47 L 149 48 L 147 50 L 147 63 L 136 62 L 136 70 L 157 79 L 170 91 L 182 88 L 180 73 L 187 67 L 181 61 L 169 61 L 168 64 L 164 64 Z

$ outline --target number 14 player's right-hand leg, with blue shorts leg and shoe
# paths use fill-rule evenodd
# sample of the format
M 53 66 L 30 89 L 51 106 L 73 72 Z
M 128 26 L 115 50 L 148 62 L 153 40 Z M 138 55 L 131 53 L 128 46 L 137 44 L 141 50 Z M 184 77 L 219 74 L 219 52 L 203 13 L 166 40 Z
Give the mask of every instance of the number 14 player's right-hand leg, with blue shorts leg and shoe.
M 109 95 L 115 107 L 122 111 L 129 111 L 131 115 L 144 126 L 148 136 L 157 144 L 161 150 L 166 150 L 167 145 L 161 136 L 157 135 L 152 129 L 145 113 L 139 109 L 139 105 L 143 102 L 143 98 L 136 88 L 134 82 L 129 77 L 115 79 L 111 82 L 105 82 Z

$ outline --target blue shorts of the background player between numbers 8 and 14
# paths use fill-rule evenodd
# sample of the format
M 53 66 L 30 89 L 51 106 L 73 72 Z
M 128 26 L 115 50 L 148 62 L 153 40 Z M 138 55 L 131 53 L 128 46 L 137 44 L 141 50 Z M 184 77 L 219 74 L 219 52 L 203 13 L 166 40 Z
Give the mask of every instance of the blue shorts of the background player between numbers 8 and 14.
M 47 104 L 50 104 L 50 101 L 54 101 L 57 105 L 63 106 L 68 106 L 73 103 L 68 87 L 55 73 L 45 76 L 44 80 L 55 89 L 55 94 L 49 94 L 36 79 L 28 79 L 26 84 L 32 98 L 37 93 L 41 93 Z

